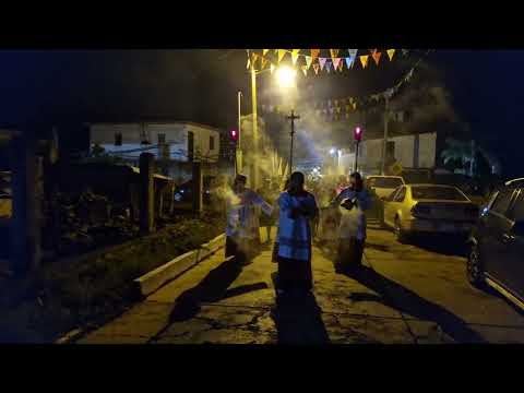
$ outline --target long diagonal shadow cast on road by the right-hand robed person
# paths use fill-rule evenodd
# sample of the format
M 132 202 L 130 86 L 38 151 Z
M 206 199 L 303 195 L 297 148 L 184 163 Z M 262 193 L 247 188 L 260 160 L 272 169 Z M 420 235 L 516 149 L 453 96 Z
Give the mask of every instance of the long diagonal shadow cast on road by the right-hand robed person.
M 384 277 L 370 267 L 362 266 L 359 271 L 345 275 L 381 295 L 381 298 L 373 296 L 374 300 L 420 320 L 437 323 L 457 343 L 486 343 L 478 333 L 469 329 L 462 319 L 452 312 L 421 298 L 413 290 Z M 354 300 L 358 301 L 358 296 Z

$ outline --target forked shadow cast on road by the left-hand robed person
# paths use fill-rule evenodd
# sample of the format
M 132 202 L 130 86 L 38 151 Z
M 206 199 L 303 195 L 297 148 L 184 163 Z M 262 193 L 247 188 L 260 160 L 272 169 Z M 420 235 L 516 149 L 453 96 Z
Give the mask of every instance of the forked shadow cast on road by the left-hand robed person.
M 202 302 L 214 302 L 225 298 L 239 296 L 249 291 L 267 288 L 265 283 L 257 283 L 227 289 L 242 272 L 234 258 L 226 260 L 212 270 L 195 287 L 180 295 L 170 313 L 170 322 L 182 322 L 195 317 Z

